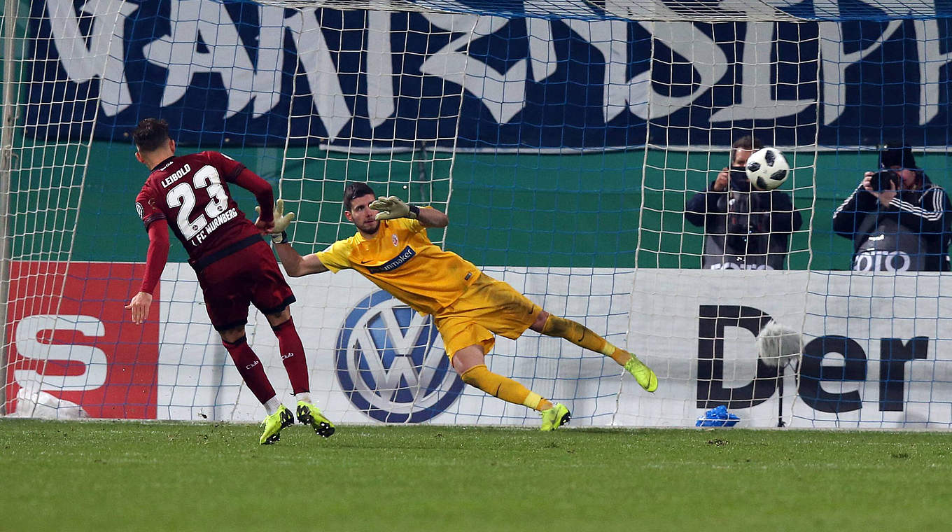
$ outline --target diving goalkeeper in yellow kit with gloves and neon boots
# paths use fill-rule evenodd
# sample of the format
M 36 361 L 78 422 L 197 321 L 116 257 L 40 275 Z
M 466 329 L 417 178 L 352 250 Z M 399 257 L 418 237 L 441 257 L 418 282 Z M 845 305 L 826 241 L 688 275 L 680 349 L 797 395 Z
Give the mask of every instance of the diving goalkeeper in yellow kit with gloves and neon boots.
M 284 214 L 283 203 L 278 200 L 275 208 L 271 238 L 288 275 L 352 268 L 416 311 L 432 314 L 446 355 L 463 382 L 541 412 L 542 430 L 558 428 L 571 414 L 564 404 L 552 404 L 523 384 L 489 371 L 486 353 L 495 344 L 495 334 L 516 339 L 530 328 L 565 338 L 624 365 L 645 390 L 658 388 L 655 373 L 631 353 L 609 344 L 585 325 L 545 312 L 512 286 L 433 245 L 426 227 L 449 224 L 440 210 L 407 205 L 396 196 L 377 199 L 366 184 L 350 184 L 344 191 L 344 214 L 357 233 L 302 257 L 288 246 L 284 229 L 294 213 Z

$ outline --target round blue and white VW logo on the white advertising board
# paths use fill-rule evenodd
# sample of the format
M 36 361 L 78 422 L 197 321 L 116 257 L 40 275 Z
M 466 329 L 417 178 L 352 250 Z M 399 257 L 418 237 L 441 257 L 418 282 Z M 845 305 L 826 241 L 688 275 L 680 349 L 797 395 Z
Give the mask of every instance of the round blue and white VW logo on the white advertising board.
M 350 403 L 385 423 L 420 423 L 463 391 L 436 325 L 383 290 L 347 313 L 334 351 Z

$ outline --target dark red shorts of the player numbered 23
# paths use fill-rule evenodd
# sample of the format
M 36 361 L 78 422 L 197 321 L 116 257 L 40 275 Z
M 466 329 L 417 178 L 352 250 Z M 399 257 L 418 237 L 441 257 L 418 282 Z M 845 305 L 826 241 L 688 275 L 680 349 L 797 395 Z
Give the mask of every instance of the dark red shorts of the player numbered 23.
M 295 301 L 264 240 L 205 266 L 197 276 L 215 330 L 247 324 L 248 305 L 276 314 Z

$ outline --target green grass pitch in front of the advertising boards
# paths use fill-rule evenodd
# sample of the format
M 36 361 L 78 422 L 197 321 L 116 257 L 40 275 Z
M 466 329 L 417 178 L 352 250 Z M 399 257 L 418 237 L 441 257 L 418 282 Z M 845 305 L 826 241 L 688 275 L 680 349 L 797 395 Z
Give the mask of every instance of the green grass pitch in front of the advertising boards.
M 0 420 L 0 530 L 942 530 L 952 435 Z

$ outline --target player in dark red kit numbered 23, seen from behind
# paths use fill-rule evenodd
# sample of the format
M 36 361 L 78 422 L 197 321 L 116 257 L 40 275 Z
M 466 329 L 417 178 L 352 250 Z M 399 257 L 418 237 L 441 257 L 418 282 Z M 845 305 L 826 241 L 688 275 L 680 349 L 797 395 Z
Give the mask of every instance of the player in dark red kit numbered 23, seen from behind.
M 295 301 L 288 282 L 265 243 L 274 226 L 274 195 L 267 181 L 241 163 L 217 151 L 175 156 L 165 120 L 146 118 L 132 131 L 135 158 L 149 167 L 149 179 L 135 199 L 135 208 L 149 231 L 146 274 L 139 292 L 126 308 L 132 322 L 149 318 L 152 291 L 169 259 L 169 227 L 188 251 L 205 296 L 208 318 L 222 336 L 245 383 L 265 405 L 268 417 L 259 443 L 275 443 L 281 429 L 294 424 L 288 408 L 276 397 L 265 369 L 245 336 L 248 305 L 255 305 L 278 337 L 281 360 L 297 399 L 297 418 L 324 437 L 334 425 L 311 404 L 304 345 L 291 320 L 288 305 Z M 251 223 L 238 209 L 228 184 L 246 188 L 258 200 L 260 217 Z M 282 218 L 286 227 L 288 222 Z

